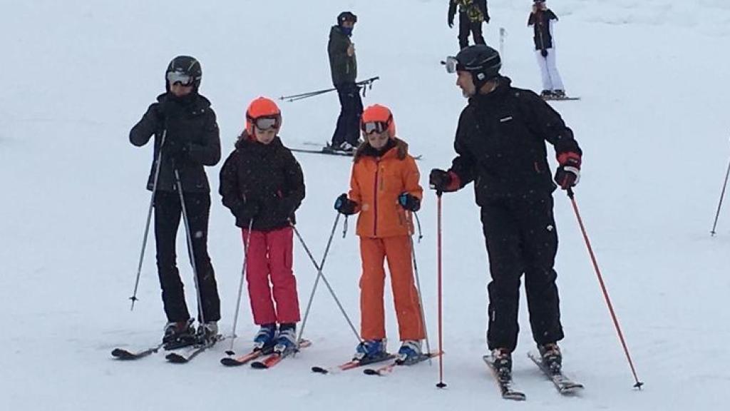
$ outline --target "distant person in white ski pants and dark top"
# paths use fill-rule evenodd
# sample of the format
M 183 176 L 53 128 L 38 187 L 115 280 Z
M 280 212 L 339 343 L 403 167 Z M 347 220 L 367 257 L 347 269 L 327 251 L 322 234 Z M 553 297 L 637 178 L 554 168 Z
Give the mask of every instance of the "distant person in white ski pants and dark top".
M 532 11 L 527 20 L 528 26 L 534 28 L 535 56 L 542 75 L 542 93 L 545 99 L 564 98 L 565 87 L 558 73 L 555 55 L 555 40 L 553 39 L 553 22 L 558 16 L 548 9 L 545 0 L 534 0 Z

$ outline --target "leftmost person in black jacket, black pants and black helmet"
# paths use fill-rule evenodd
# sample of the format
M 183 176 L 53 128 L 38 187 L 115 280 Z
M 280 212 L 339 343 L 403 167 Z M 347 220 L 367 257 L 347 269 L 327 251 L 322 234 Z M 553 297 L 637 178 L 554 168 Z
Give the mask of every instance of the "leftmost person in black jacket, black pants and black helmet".
M 207 251 L 210 186 L 203 170 L 220 161 L 220 137 L 210 101 L 198 92 L 202 70 L 199 61 L 177 56 L 165 72 L 166 92 L 150 105 L 145 116 L 129 133 L 134 146 L 144 146 L 153 135 L 155 161 L 147 181 L 154 193 L 157 269 L 167 324 L 163 341 L 167 347 L 193 344 L 218 335 L 220 299 L 215 273 Z M 162 156 L 158 153 L 162 151 Z M 155 187 L 157 159 L 161 159 Z M 194 267 L 201 306 L 197 331 L 185 304 L 177 270 L 175 239 L 183 207 L 177 175 L 185 198 L 185 211 L 192 240 Z M 184 216 L 183 216 L 184 217 Z

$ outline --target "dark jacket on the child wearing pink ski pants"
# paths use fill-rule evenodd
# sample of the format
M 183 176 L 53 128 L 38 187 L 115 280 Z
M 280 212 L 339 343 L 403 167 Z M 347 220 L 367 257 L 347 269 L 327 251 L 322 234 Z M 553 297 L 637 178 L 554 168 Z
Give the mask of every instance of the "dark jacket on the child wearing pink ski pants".
M 248 227 L 244 209 L 253 202 L 258 206 L 253 230 L 275 230 L 295 222 L 294 211 L 304 200 L 304 175 L 279 137 L 262 144 L 244 132 L 220 169 L 220 195 L 238 227 Z

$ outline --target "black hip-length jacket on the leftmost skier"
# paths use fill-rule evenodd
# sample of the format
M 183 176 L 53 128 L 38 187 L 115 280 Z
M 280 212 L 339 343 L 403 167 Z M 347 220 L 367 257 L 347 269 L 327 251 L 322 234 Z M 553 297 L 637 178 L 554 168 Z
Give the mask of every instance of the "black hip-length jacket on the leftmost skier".
M 164 129 L 167 129 L 166 141 L 176 140 L 185 147 L 185 154 L 174 165 L 180 173 L 183 192 L 210 192 L 203 166 L 216 165 L 220 161 L 220 136 L 215 112 L 210 108 L 210 101 L 197 93 L 189 94 L 183 99 L 170 96 L 171 94 L 158 96 L 158 102 L 150 105 L 142 120 L 129 132 L 129 140 L 134 146 L 144 146 L 150 137 L 155 135 L 153 162 L 150 177 L 147 179 L 147 189 L 150 191 L 153 189 L 161 139 Z M 167 118 L 159 116 L 160 105 L 166 105 L 165 111 L 169 114 Z M 177 191 L 173 160 L 165 154 L 164 148 L 157 189 Z

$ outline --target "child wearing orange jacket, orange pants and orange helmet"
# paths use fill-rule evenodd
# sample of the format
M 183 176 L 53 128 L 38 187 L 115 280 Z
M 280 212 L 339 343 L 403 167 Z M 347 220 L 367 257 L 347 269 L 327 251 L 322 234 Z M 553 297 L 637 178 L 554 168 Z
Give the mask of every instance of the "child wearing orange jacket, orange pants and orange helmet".
M 393 300 L 402 342 L 400 361 L 423 357 L 421 307 L 411 260 L 412 212 L 420 208 L 423 189 L 408 145 L 396 137 L 391 110 L 372 105 L 360 121 L 364 142 L 354 156 L 350 192 L 337 197 L 334 208 L 342 214 L 359 213 L 361 336 L 354 359 L 361 362 L 388 358 L 385 339 L 384 260 L 391 273 Z

